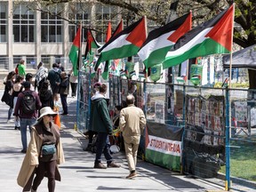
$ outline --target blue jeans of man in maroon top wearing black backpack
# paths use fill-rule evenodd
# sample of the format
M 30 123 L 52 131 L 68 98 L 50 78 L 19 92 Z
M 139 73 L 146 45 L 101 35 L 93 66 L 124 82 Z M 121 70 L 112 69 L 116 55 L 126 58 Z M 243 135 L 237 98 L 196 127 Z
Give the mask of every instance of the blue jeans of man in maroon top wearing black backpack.
M 36 118 L 20 118 L 20 135 L 22 142 L 22 149 L 27 150 L 27 126 L 29 128 L 29 132 L 31 132 L 31 125 L 36 124 Z

